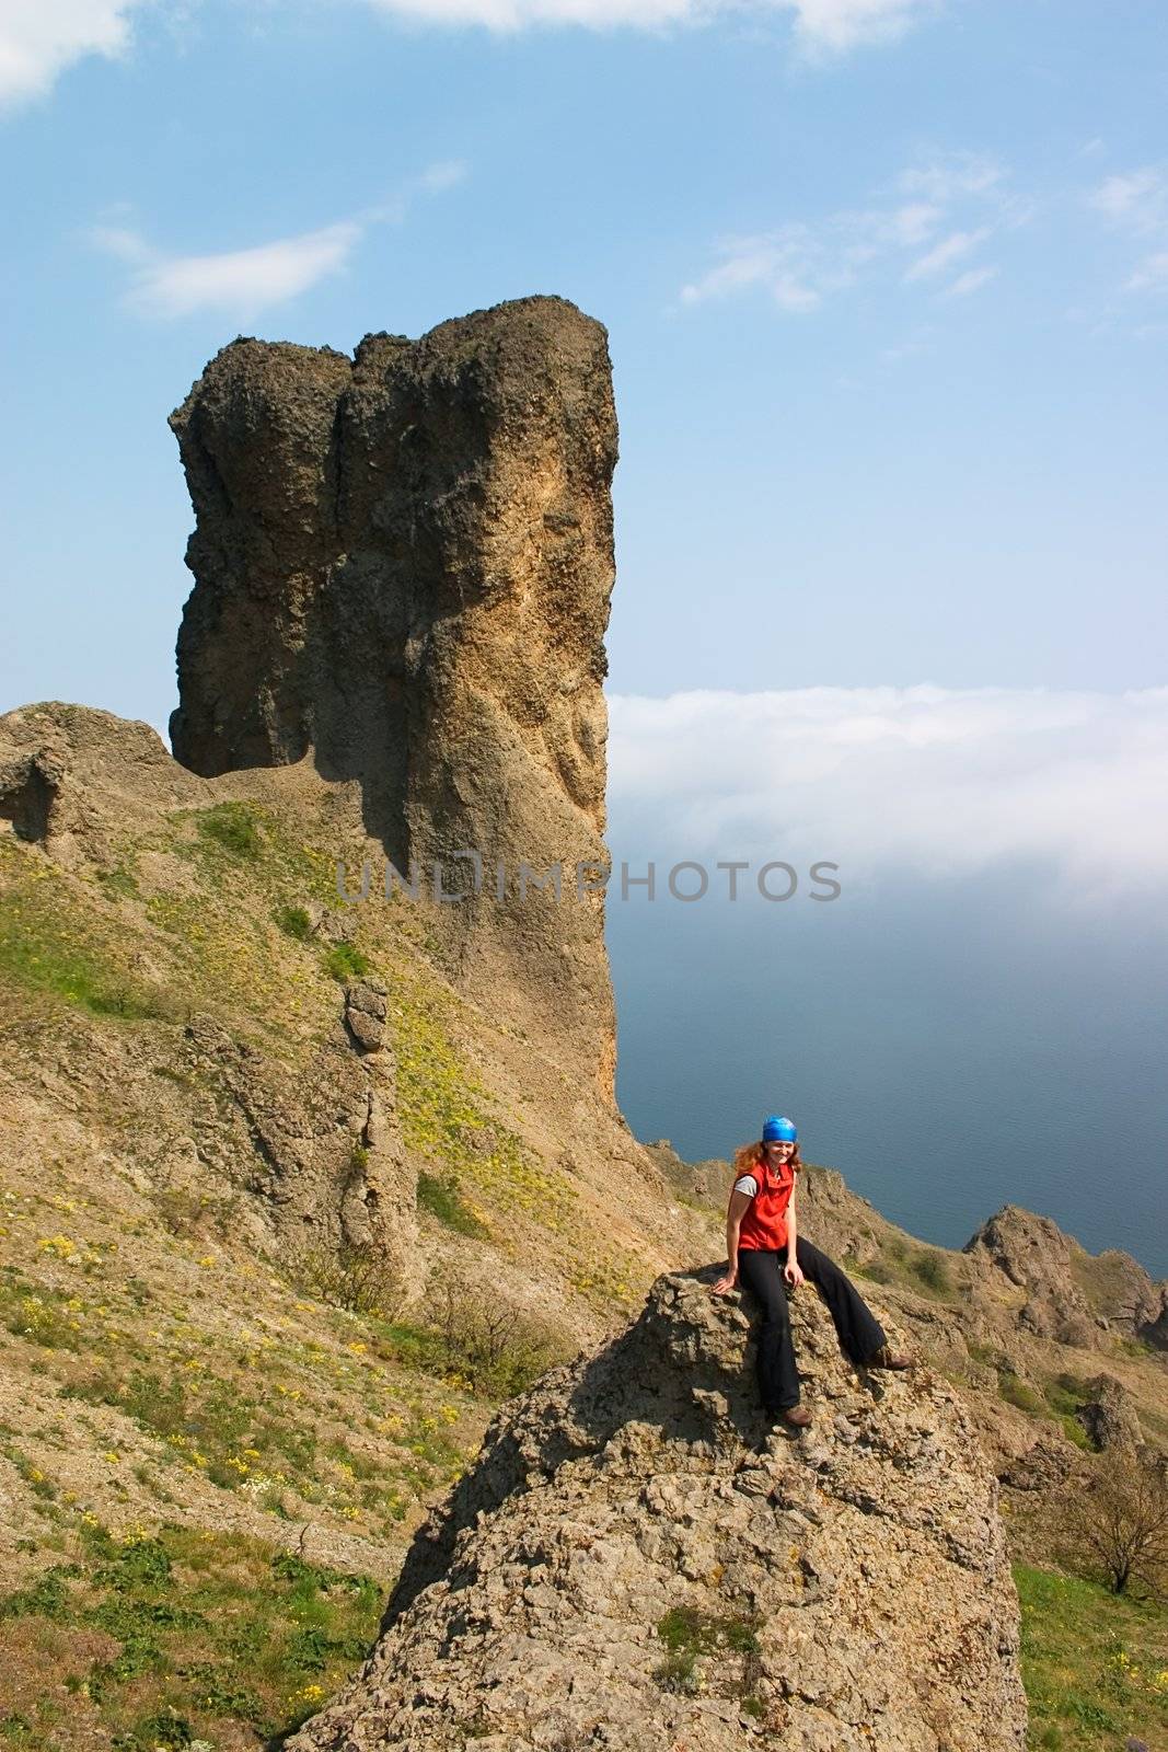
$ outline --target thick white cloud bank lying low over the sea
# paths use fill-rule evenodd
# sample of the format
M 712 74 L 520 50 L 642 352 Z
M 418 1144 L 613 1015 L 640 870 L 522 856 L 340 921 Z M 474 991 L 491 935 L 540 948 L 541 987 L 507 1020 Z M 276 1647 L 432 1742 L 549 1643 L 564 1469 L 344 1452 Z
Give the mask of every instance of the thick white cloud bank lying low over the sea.
M 823 857 L 855 881 L 1038 862 L 1061 904 L 1164 904 L 1168 687 L 807 687 L 608 704 L 613 820 L 636 822 L 651 855 L 711 867 Z

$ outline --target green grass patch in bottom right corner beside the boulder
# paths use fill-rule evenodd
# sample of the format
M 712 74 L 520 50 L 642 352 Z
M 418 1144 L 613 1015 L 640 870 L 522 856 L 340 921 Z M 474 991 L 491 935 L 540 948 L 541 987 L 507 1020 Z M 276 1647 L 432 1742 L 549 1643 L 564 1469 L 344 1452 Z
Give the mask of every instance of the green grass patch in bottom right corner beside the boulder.
M 1168 1752 L 1168 1612 L 1016 1565 L 1031 1752 Z

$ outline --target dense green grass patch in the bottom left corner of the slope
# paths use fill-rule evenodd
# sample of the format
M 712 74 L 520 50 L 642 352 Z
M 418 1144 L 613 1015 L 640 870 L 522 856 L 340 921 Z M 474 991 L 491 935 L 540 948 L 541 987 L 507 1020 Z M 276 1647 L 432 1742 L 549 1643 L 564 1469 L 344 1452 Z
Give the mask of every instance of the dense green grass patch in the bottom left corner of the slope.
M 354 1671 L 382 1589 L 240 1533 L 121 1538 L 75 1517 L 67 1561 L 0 1598 L 14 1708 L 0 1743 L 166 1752 L 278 1740 Z M 21 1656 L 25 1659 L 21 1661 Z M 37 1673 L 49 1661 L 65 1701 Z

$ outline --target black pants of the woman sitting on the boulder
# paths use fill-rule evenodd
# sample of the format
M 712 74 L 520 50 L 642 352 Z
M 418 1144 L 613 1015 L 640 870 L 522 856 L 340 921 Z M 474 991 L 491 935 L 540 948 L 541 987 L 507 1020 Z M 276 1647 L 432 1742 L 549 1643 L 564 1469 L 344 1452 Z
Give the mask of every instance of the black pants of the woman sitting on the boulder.
M 841 1272 L 835 1260 L 820 1253 L 799 1235 L 795 1258 L 809 1284 L 814 1284 L 827 1302 L 839 1344 L 853 1363 L 863 1363 L 886 1342 L 884 1328 L 872 1314 L 853 1281 Z M 758 1389 L 769 1412 L 799 1405 L 799 1374 L 792 1346 L 792 1318 L 786 1307 L 783 1267 L 786 1247 L 779 1253 L 762 1247 L 739 1247 L 739 1282 L 762 1303 L 758 1328 Z

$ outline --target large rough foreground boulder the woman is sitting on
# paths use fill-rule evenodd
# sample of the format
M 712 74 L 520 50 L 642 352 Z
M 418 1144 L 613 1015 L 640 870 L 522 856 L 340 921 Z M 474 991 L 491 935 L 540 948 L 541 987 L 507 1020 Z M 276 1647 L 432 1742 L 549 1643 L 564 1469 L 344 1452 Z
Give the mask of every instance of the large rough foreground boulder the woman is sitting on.
M 503 1410 L 294 1752 L 1023 1747 L 996 1486 L 956 1395 L 858 1377 L 799 1291 L 816 1421 L 769 1433 L 714 1275 L 660 1277 Z

